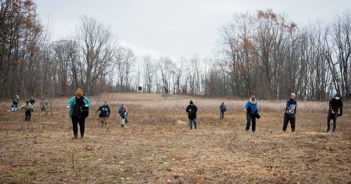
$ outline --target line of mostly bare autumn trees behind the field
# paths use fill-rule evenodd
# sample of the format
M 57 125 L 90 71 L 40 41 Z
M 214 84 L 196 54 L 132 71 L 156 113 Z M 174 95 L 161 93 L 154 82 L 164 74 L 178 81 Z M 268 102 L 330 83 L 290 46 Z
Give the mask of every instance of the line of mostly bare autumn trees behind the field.
M 297 26 L 272 10 L 236 13 L 211 56 L 138 57 L 111 27 L 82 16 L 72 36 L 52 39 L 34 1 L 0 0 L 1 98 L 102 92 L 264 99 L 350 98 L 351 14 Z M 139 91 L 138 87 L 142 90 Z

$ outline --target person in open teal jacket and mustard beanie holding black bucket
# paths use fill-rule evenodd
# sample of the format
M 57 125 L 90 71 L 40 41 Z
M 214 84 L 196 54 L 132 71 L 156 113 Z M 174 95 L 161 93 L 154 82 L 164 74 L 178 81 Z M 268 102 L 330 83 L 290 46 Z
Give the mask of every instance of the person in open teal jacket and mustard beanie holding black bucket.
M 75 96 L 72 97 L 66 105 L 66 108 L 71 108 L 69 110 L 69 117 L 71 117 L 73 125 L 72 139 L 78 138 L 78 123 L 80 128 L 80 138 L 84 139 L 84 123 L 86 116 L 84 116 L 80 110 L 80 108 L 83 106 L 90 108 L 90 100 L 87 97 L 83 96 L 82 90 L 78 88 L 77 92 L 75 92 Z

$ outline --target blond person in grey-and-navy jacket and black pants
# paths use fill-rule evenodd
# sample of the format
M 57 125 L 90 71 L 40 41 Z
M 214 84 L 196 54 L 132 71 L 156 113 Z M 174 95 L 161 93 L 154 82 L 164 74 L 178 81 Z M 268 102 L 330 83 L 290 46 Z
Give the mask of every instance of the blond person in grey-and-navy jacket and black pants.
M 282 133 L 286 131 L 287 124 L 289 123 L 289 121 L 291 124 L 291 132 L 295 133 L 295 115 L 296 115 L 297 102 L 294 99 L 295 99 L 295 93 L 292 93 L 290 95 L 290 99 L 286 101 Z

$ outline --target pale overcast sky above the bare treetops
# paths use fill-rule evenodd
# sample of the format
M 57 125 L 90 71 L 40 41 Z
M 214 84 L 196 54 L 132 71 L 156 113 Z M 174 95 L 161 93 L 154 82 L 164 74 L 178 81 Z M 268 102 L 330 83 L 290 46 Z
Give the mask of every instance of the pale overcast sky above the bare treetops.
M 71 35 L 82 15 L 112 26 L 121 45 L 154 59 L 211 55 L 218 28 L 235 12 L 271 8 L 286 13 L 298 25 L 330 19 L 351 7 L 350 0 L 35 0 L 40 18 L 54 21 L 54 39 Z

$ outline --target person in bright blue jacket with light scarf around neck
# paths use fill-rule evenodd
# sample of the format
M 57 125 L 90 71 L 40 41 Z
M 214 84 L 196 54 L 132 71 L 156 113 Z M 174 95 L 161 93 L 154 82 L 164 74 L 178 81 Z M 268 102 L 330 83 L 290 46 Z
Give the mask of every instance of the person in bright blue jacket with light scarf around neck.
M 249 133 L 250 124 L 252 122 L 252 133 L 256 132 L 256 114 L 258 113 L 257 101 L 255 96 L 251 96 L 247 101 L 244 112 L 246 112 L 246 133 Z

